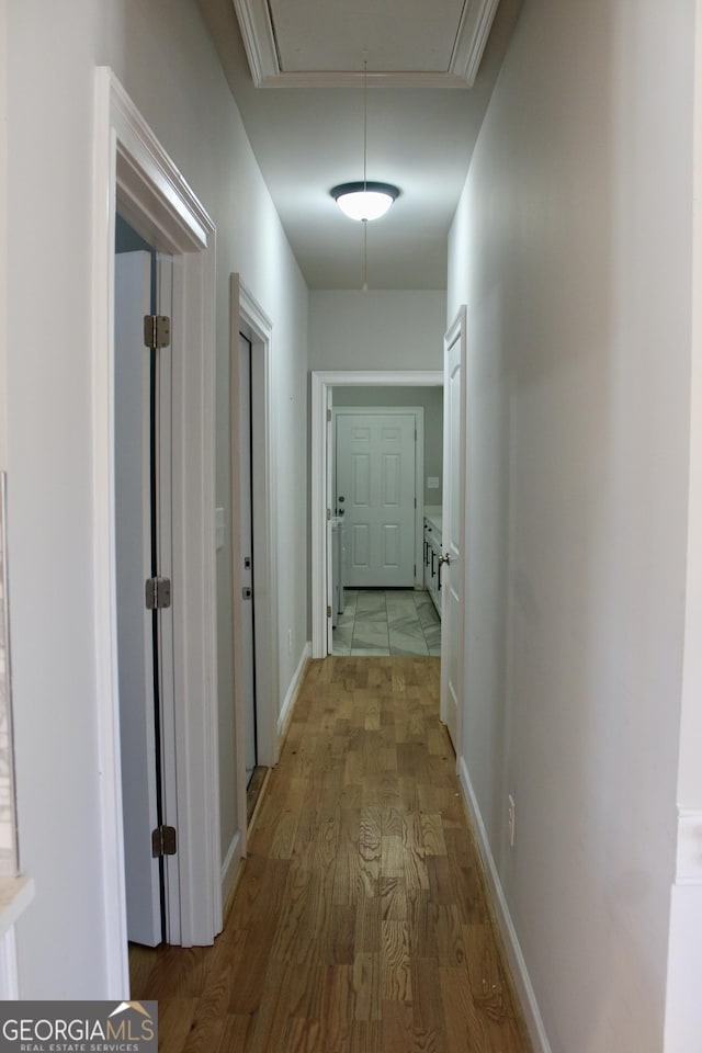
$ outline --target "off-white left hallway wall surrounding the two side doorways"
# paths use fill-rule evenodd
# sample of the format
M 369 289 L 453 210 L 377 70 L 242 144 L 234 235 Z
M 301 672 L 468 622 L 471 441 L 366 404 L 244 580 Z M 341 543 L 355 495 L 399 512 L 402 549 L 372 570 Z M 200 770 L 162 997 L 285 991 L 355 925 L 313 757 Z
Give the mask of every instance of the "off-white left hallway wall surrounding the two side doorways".
M 21 852 L 36 879 L 35 902 L 19 927 L 21 992 L 114 997 L 105 986 L 103 862 L 95 848 L 90 559 L 97 65 L 114 68 L 217 225 L 219 451 L 228 444 L 222 394 L 231 271 L 273 320 L 278 500 L 285 523 L 279 555 L 291 568 L 281 581 L 279 618 L 281 626 L 295 626 L 294 653 L 285 646 L 281 655 L 281 697 L 305 641 L 306 512 L 295 496 L 307 484 L 307 293 L 195 4 L 23 0 L 9 5 L 8 16 L 12 642 Z M 227 486 L 223 455 L 217 503 L 226 507 Z M 230 641 L 224 593 L 219 615 L 222 650 Z M 224 854 L 236 834 L 230 664 L 223 661 L 219 672 Z

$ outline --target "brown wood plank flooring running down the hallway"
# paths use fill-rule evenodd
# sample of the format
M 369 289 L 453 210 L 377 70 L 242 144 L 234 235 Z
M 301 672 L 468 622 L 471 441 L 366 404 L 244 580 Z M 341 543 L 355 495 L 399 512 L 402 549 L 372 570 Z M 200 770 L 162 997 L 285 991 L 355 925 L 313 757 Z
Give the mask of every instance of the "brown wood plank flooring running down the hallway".
M 530 1053 L 438 658 L 312 663 L 225 931 L 135 948 L 168 1053 Z

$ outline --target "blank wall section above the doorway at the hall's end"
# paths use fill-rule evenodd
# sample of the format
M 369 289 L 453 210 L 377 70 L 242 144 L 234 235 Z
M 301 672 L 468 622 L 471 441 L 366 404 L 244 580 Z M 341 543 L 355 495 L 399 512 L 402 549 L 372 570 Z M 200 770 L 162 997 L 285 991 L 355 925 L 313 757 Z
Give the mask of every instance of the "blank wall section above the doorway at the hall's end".
M 442 370 L 446 294 L 313 290 L 309 369 Z

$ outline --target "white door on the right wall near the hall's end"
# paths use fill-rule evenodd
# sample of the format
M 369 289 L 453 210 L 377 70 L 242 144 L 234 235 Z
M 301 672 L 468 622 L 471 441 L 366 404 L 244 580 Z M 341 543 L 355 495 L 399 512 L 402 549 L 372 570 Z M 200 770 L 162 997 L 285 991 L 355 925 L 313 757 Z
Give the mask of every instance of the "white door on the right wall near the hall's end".
M 460 754 L 465 537 L 465 308 L 444 341 L 441 718 Z

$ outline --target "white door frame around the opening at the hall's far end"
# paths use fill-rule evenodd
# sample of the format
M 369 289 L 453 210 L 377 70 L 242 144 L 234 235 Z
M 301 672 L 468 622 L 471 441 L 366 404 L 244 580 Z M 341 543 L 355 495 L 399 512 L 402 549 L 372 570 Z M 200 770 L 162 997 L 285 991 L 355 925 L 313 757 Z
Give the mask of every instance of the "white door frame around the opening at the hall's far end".
M 332 387 L 443 387 L 441 370 L 312 374 L 312 656 L 327 652 L 327 397 Z

